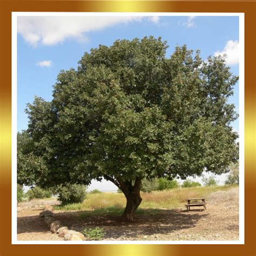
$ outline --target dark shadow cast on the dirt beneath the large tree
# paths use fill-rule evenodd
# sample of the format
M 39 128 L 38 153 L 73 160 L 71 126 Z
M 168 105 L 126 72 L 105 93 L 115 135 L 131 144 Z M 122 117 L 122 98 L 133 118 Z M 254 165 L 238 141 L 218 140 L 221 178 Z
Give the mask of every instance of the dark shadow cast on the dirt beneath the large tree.
M 102 227 L 105 239 L 126 239 L 185 230 L 196 226 L 199 219 L 207 215 L 201 211 L 143 209 L 132 223 L 121 221 L 117 215 L 95 215 L 95 211 L 56 212 L 54 217 L 72 230 L 83 232 L 84 228 Z M 18 233 L 49 231 L 39 216 L 18 217 L 17 221 Z M 24 225 L 26 223 L 28 225 Z

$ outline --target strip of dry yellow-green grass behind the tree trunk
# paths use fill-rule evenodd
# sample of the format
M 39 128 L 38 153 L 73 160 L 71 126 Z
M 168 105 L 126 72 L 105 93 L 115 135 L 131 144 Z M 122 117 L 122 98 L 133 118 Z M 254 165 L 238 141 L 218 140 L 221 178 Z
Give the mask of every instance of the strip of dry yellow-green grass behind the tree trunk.
M 156 214 L 158 208 L 175 209 L 182 207 L 187 198 L 207 198 L 210 193 L 230 190 L 235 186 L 210 186 L 210 187 L 179 187 L 172 190 L 153 191 L 142 193 L 142 204 L 136 214 Z M 120 215 L 124 211 L 126 199 L 121 193 L 96 193 L 87 194 L 83 203 L 70 205 L 57 205 L 55 210 L 84 211 L 82 217 L 88 215 Z M 156 210 L 156 211 L 154 211 Z M 87 213 L 86 213 L 87 212 Z

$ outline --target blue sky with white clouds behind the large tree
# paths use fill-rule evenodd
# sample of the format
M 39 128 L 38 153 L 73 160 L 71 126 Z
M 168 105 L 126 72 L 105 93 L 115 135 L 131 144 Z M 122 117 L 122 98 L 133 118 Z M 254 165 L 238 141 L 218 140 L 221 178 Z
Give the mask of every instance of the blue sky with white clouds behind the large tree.
M 159 36 L 174 48 L 187 45 L 208 56 L 227 55 L 226 64 L 239 74 L 239 17 L 237 16 L 18 16 L 17 18 L 17 131 L 28 127 L 24 112 L 35 96 L 52 99 L 60 70 L 77 68 L 84 52 L 117 39 Z M 239 84 L 229 99 L 239 112 Z M 232 123 L 239 132 L 239 120 Z M 207 176 L 207 174 L 206 174 Z M 217 176 L 223 184 L 226 174 Z M 201 181 L 201 178 L 196 178 Z M 116 190 L 107 181 L 93 181 L 89 190 Z

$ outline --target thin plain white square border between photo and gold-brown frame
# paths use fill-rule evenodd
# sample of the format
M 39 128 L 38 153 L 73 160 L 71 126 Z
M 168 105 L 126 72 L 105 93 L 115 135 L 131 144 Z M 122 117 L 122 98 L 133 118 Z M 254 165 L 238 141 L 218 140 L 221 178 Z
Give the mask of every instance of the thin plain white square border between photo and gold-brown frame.
M 239 17 L 239 240 L 227 241 L 19 241 L 17 240 L 17 17 L 18 16 L 238 16 Z M 12 244 L 244 244 L 244 13 L 12 12 Z

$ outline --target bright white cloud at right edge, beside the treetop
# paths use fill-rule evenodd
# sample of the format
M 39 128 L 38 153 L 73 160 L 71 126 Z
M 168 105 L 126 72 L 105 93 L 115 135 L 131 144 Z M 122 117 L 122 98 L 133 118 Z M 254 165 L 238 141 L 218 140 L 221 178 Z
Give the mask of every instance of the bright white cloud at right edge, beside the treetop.
M 226 55 L 226 64 L 235 65 L 239 63 L 239 42 L 227 41 L 223 51 L 214 52 L 214 56 Z

